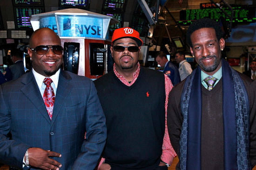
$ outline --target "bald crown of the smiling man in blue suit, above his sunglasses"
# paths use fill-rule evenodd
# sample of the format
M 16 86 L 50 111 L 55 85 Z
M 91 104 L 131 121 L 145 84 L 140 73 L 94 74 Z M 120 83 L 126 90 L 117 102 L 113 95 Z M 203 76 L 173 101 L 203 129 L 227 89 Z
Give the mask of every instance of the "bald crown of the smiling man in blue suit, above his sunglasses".
M 54 39 L 56 41 L 59 41 L 59 45 L 61 45 L 61 39 L 60 37 L 50 28 L 40 28 L 34 31 L 32 33 L 30 40 L 29 40 L 29 46 L 30 48 L 34 48 L 36 41 L 38 39 Z M 47 42 L 46 42 L 47 43 Z

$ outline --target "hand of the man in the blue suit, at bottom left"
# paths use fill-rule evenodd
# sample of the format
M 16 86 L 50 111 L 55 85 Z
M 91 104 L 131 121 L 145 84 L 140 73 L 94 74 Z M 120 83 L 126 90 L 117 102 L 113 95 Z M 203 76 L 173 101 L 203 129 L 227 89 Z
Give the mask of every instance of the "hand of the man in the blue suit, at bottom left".
M 49 157 L 61 157 L 61 154 L 49 150 L 43 150 L 41 148 L 28 149 L 28 161 L 30 166 L 43 170 L 59 170 L 59 168 L 61 168 L 61 163 Z

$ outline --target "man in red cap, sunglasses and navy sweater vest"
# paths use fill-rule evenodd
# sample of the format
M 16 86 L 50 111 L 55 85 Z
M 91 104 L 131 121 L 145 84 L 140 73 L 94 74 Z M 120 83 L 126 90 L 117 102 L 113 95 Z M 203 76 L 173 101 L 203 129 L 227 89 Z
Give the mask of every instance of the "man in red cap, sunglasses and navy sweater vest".
M 140 66 L 142 44 L 134 29 L 116 29 L 114 69 L 94 81 L 108 129 L 99 170 L 167 170 L 176 156 L 166 126 L 173 85 L 162 72 Z

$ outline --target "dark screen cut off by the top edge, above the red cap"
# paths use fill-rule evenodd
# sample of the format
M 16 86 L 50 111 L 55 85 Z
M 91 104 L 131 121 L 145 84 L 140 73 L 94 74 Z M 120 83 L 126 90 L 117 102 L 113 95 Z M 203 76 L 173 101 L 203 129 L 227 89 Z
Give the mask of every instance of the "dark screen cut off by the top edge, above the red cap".
M 127 0 L 103 0 L 102 11 L 124 12 Z

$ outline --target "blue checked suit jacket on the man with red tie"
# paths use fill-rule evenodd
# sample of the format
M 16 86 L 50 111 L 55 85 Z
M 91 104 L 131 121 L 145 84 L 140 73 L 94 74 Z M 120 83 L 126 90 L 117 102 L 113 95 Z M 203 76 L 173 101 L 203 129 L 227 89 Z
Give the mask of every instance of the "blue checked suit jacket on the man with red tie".
M 22 169 L 26 150 L 39 147 L 61 153 L 62 157 L 54 157 L 62 164 L 61 170 L 93 170 L 106 137 L 105 116 L 88 78 L 61 70 L 52 120 L 33 72 L 0 86 L 2 163 Z

